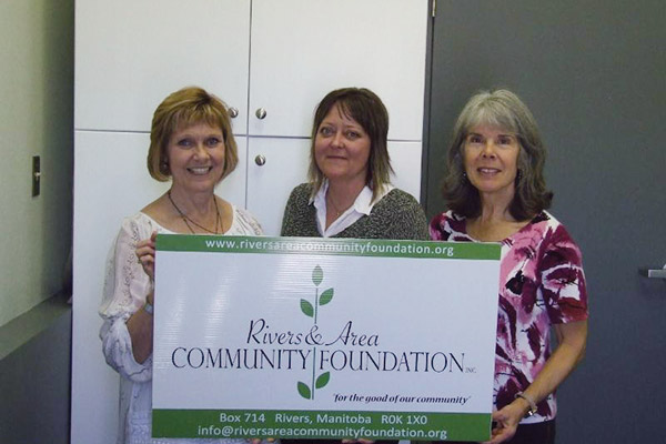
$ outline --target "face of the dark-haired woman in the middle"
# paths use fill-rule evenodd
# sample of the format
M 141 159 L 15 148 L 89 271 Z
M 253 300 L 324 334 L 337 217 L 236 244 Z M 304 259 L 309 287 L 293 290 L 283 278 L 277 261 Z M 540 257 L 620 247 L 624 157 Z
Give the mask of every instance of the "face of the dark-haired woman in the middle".
M 359 122 L 334 105 L 319 125 L 314 159 L 331 182 L 346 181 L 364 186 L 372 142 Z

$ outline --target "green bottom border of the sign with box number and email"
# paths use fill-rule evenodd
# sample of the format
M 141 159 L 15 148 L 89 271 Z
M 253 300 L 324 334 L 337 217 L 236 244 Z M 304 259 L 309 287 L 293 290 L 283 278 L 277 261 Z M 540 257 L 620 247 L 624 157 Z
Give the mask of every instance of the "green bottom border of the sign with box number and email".
M 491 437 L 490 413 L 155 408 L 152 417 L 152 436 L 165 438 L 362 437 L 482 442 Z

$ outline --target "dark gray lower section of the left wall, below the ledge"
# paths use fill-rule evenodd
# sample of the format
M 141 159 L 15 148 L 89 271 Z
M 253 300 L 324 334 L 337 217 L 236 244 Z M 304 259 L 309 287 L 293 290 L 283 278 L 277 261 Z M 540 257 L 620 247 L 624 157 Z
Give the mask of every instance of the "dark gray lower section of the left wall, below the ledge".
M 0 443 L 69 443 L 71 325 L 53 297 L 0 327 Z

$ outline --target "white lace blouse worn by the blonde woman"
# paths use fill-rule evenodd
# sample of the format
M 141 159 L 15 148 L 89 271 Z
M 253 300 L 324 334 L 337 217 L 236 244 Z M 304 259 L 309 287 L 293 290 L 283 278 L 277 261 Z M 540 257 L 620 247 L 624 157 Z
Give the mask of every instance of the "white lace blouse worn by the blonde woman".
M 144 213 L 127 218 L 107 261 L 100 339 L 107 363 L 120 379 L 119 444 L 178 444 L 192 440 L 151 438 L 152 355 L 142 364 L 134 360 L 125 322 L 145 303 L 150 280 L 137 260 L 137 242 L 153 231 L 172 233 Z M 261 235 L 261 225 L 243 209 L 233 206 L 228 235 Z M 196 443 L 246 443 L 246 440 L 195 440 Z

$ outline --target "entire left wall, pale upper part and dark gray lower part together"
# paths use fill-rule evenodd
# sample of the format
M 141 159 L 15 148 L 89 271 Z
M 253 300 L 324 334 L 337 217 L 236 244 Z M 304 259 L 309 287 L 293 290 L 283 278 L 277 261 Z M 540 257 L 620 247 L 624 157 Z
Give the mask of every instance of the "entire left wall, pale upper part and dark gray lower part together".
M 73 23 L 73 0 L 0 1 L 3 444 L 69 442 L 71 310 L 49 297 L 63 287 L 72 239 Z

